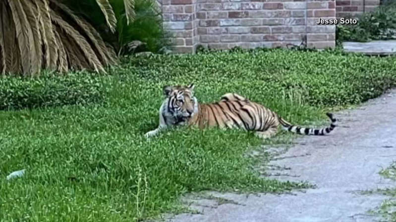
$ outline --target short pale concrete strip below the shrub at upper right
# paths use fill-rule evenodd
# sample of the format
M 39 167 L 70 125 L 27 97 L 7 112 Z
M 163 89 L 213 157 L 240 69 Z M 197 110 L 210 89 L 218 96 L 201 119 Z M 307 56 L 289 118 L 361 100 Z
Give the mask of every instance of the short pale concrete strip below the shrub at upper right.
M 362 52 L 368 55 L 396 54 L 396 40 L 378 40 L 368 43 L 344 42 L 342 46 L 347 52 Z

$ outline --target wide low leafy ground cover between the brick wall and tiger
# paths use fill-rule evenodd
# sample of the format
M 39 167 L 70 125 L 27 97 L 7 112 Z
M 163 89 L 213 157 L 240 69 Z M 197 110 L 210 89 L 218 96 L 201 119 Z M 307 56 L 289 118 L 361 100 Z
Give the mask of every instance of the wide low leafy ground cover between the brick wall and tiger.
M 187 80 L 181 77 L 189 73 L 188 79 L 191 81 L 211 85 L 212 90 L 221 90 L 213 92 L 216 96 L 236 91 L 260 101 L 283 92 L 300 90 L 305 103 L 312 106 L 363 102 L 396 84 L 393 57 L 380 59 L 337 50 L 201 52 L 197 56 L 153 56 L 144 60 L 131 57 L 131 62 L 140 70 L 135 75 L 147 78 L 147 81 L 168 79 L 180 83 Z M 208 83 L 212 78 L 216 78 L 217 82 Z M 239 84 L 228 86 L 229 80 Z M 188 81 L 185 83 L 188 84 Z M 199 84 L 196 88 L 199 90 Z

